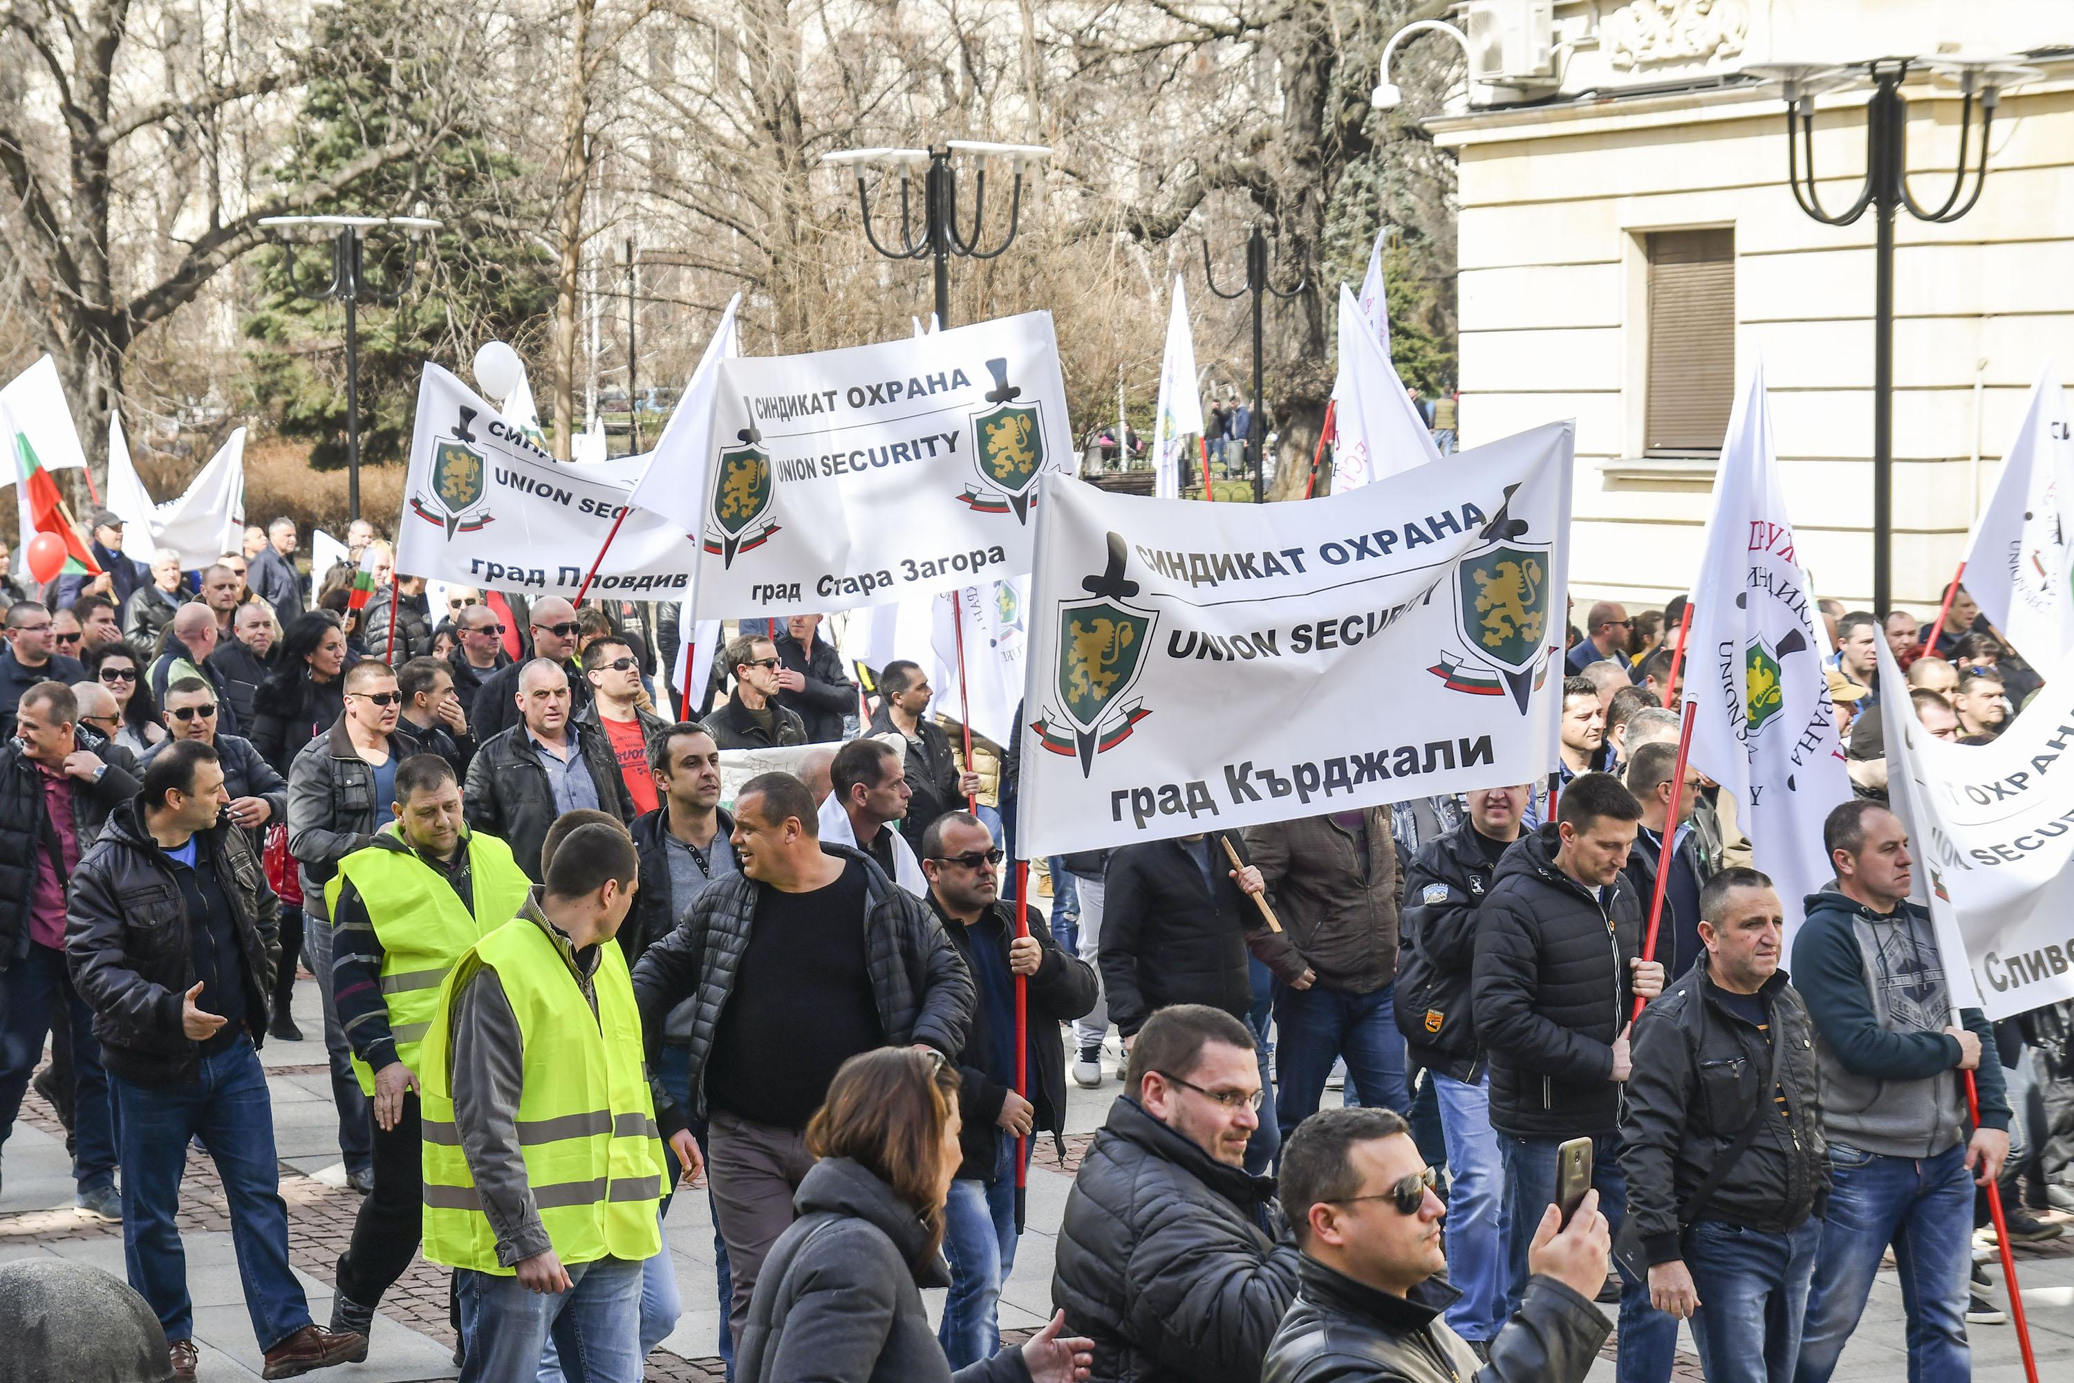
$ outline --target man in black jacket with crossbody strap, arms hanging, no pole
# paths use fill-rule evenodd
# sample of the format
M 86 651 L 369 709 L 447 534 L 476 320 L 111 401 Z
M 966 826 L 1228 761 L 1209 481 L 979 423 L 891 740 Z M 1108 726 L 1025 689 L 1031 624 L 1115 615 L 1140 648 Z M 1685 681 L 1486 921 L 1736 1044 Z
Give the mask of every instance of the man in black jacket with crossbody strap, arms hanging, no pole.
M 1634 1024 L 1622 1257 L 1692 1321 L 1707 1383 L 1792 1383 L 1829 1201 L 1809 1014 L 1771 879 L 1723 869 L 1694 912 L 1701 958 Z

